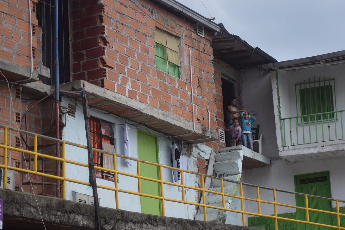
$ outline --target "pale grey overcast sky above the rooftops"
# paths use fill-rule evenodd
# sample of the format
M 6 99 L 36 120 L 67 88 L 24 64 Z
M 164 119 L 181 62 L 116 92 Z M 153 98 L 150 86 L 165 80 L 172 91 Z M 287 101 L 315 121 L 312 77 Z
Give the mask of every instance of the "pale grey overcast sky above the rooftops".
M 345 50 L 345 0 L 177 0 L 277 61 Z

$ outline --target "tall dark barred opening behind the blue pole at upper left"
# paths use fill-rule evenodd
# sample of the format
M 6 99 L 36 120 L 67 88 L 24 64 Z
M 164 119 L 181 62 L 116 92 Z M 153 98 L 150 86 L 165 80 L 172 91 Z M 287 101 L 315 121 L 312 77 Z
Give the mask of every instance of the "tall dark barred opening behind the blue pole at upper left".
M 59 83 L 70 81 L 70 45 L 69 45 L 69 1 L 58 1 L 58 45 L 59 45 Z M 51 79 L 43 83 L 54 85 L 55 80 L 55 20 L 54 0 L 41 0 L 37 3 L 38 26 L 42 28 L 42 62 L 50 69 Z

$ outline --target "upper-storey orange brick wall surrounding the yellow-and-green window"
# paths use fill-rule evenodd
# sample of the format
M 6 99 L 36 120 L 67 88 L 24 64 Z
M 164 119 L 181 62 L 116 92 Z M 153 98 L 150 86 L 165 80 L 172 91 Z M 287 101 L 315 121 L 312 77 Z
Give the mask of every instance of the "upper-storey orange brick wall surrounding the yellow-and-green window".
M 217 129 L 211 34 L 198 36 L 195 25 L 148 0 L 72 2 L 73 80 L 87 80 L 179 117 L 192 119 L 189 50 L 196 122 Z M 180 42 L 177 79 L 155 66 L 155 30 Z

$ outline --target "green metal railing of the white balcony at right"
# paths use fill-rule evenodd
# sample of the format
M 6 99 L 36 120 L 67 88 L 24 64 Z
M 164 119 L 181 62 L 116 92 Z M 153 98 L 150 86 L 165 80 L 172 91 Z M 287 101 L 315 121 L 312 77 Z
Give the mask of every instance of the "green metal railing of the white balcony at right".
M 344 139 L 345 110 L 280 119 L 282 145 L 337 141 Z

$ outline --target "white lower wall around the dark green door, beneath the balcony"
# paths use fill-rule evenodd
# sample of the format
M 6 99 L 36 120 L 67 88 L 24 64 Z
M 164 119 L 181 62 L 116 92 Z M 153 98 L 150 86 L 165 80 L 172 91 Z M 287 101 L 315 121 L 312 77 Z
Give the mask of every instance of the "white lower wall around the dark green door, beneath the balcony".
M 313 160 L 304 162 L 289 163 L 283 159 L 272 160 L 272 165 L 243 170 L 241 182 L 259 186 L 276 188 L 286 191 L 295 191 L 294 175 L 329 171 L 331 181 L 332 198 L 345 200 L 343 166 L 345 158 L 333 158 L 327 160 Z M 257 198 L 256 188 L 244 186 L 244 196 Z M 260 199 L 273 201 L 273 191 L 260 189 Z M 277 202 L 295 205 L 295 196 L 288 193 L 277 192 Z M 339 206 L 345 206 L 340 203 Z M 332 204 L 335 207 L 335 203 Z M 262 214 L 274 214 L 273 205 L 261 203 Z M 257 213 L 257 202 L 245 202 L 245 210 Z M 278 214 L 295 212 L 295 209 L 278 207 Z

